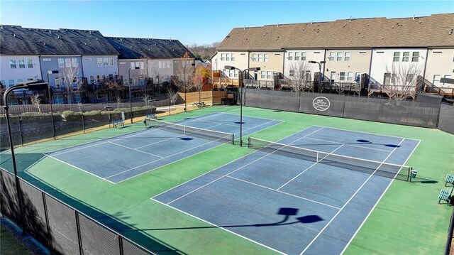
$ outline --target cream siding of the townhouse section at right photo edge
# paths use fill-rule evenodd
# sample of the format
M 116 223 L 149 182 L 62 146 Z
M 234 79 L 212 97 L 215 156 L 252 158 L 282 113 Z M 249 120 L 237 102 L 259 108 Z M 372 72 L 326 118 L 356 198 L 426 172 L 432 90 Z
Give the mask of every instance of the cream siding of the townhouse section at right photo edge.
M 433 83 L 435 75 L 439 77 L 445 77 L 450 75 L 450 78 L 454 78 L 454 49 L 431 49 L 428 50 L 427 65 L 426 65 L 426 80 Z M 438 77 L 437 77 L 438 80 Z M 436 82 L 438 87 L 454 87 L 449 84 L 439 84 Z

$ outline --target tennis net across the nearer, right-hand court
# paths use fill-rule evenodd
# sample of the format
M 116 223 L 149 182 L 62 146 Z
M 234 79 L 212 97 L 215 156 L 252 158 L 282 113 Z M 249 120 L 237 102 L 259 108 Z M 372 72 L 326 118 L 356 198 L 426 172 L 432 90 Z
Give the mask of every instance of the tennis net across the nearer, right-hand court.
M 409 166 L 383 163 L 380 161 L 370 161 L 367 159 L 343 156 L 323 151 L 314 151 L 307 148 L 256 139 L 253 137 L 248 138 L 248 147 L 265 151 L 267 153 L 346 168 L 367 174 L 380 175 L 387 178 L 410 182 L 412 178 L 412 168 Z

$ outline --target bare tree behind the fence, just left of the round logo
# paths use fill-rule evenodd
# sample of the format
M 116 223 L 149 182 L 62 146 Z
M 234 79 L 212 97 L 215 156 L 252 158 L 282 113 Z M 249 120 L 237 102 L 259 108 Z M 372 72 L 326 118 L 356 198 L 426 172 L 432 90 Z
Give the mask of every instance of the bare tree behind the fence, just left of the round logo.
M 300 92 L 304 89 L 314 89 L 311 79 L 310 64 L 304 60 L 291 61 L 287 64 L 289 77 L 285 78 L 285 84 L 294 92 Z

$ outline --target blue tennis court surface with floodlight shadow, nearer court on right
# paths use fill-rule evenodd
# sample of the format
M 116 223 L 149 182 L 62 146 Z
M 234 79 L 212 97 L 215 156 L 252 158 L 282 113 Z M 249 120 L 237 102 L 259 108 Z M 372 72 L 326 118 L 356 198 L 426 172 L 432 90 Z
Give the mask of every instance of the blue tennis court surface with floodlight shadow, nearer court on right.
M 279 143 L 404 165 L 419 141 L 311 126 Z M 258 150 L 152 200 L 282 254 L 341 254 L 392 180 Z

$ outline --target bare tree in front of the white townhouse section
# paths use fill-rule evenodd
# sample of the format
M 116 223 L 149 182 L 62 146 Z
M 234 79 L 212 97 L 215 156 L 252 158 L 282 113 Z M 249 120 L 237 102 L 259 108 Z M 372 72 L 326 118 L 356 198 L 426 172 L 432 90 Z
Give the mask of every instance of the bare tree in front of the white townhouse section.
M 393 63 L 386 67 L 384 90 L 390 99 L 404 100 L 415 98 L 418 76 L 422 66 L 415 63 Z

